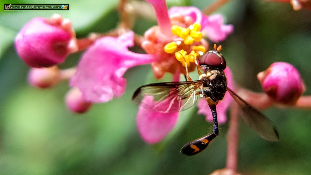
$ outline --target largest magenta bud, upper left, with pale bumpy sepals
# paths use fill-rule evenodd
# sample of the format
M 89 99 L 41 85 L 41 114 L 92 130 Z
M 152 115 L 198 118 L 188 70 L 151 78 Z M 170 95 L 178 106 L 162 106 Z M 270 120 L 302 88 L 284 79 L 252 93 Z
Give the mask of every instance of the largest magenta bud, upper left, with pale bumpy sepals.
M 15 48 L 26 64 L 36 68 L 63 63 L 78 49 L 71 21 L 57 14 L 29 21 L 16 35 Z

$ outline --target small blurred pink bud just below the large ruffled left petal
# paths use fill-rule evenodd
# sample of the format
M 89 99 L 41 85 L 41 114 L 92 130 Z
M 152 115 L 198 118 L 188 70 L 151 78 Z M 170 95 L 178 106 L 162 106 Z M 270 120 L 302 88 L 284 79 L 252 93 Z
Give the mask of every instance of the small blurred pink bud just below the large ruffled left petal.
M 84 113 L 91 107 L 91 102 L 85 101 L 82 92 L 77 87 L 73 87 L 65 97 L 66 105 L 70 111 Z

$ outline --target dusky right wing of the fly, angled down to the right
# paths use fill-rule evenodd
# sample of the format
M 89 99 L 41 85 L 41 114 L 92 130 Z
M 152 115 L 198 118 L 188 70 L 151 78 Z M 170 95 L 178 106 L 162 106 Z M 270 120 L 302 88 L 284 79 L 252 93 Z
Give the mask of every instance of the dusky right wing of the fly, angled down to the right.
M 262 138 L 270 141 L 279 141 L 279 133 L 272 122 L 260 111 L 250 106 L 241 97 L 227 87 L 228 92 L 233 97 L 240 108 L 240 114 L 245 123 Z

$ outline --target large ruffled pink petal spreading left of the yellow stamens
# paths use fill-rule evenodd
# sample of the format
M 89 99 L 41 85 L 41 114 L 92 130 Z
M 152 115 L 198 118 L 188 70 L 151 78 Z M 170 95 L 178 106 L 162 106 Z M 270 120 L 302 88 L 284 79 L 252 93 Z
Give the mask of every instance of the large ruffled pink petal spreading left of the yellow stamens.
M 128 68 L 151 63 L 152 54 L 137 54 L 128 50 L 133 46 L 134 33 L 119 37 L 103 37 L 82 55 L 77 72 L 70 79 L 70 86 L 79 87 L 89 102 L 108 102 L 125 92 Z

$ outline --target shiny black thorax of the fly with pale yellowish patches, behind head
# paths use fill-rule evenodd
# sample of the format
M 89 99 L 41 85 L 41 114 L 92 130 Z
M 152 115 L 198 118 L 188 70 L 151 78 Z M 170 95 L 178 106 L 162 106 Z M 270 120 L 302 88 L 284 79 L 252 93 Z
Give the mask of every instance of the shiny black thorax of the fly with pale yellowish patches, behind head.
M 200 76 L 203 81 L 202 94 L 213 101 L 222 100 L 227 91 L 226 74 L 221 69 L 206 69 Z

